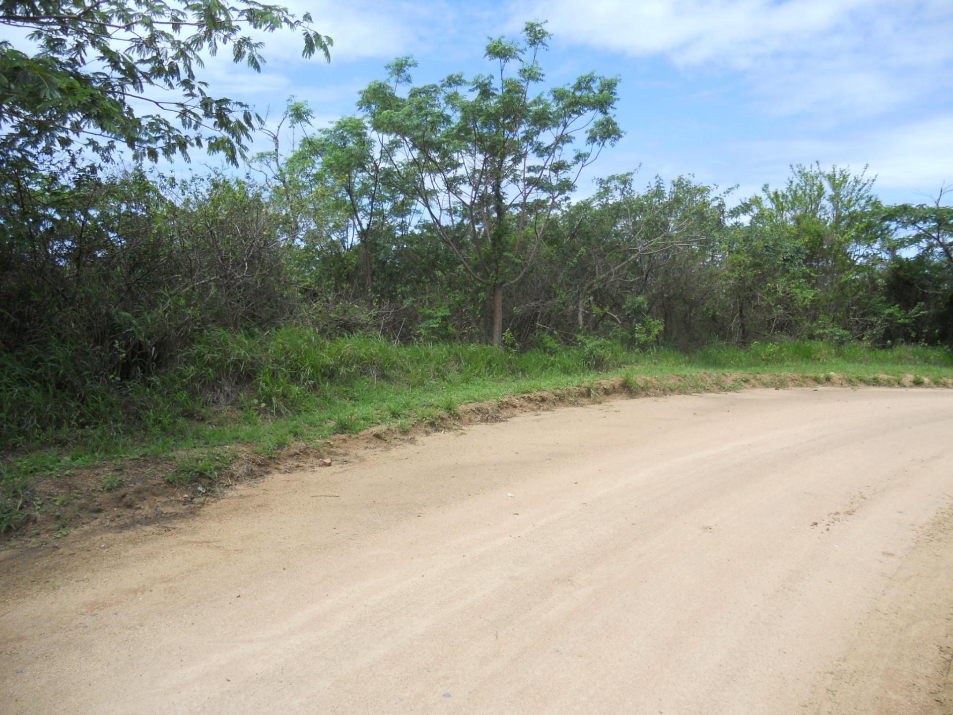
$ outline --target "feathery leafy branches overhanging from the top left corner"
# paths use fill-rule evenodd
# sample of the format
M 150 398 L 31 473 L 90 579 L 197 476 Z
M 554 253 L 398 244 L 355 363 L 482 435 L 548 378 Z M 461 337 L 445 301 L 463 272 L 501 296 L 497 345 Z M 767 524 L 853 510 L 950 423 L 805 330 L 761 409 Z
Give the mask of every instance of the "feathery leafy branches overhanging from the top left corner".
M 0 26 L 29 32 L 35 50 L 0 41 L 0 155 L 76 162 L 77 149 L 105 158 L 121 142 L 150 159 L 205 146 L 235 163 L 254 117 L 209 93 L 202 54 L 230 47 L 260 72 L 262 43 L 245 32 L 286 29 L 301 32 L 304 56 L 330 59 L 311 21 L 255 0 L 2 0 Z

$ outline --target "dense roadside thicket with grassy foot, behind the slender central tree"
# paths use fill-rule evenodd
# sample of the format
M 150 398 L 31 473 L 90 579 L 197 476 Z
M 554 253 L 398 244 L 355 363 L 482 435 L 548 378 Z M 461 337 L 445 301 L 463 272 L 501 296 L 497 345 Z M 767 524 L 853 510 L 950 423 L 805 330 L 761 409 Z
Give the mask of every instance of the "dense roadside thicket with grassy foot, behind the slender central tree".
M 406 214 L 365 255 L 336 199 L 312 196 L 309 209 L 271 181 L 8 169 L 4 448 L 89 429 L 170 434 L 223 410 L 289 415 L 360 380 L 578 373 L 646 351 L 677 360 L 665 348 L 701 348 L 725 369 L 882 359 L 861 344 L 932 364 L 947 354 L 912 343 L 953 336 L 943 254 L 918 253 L 870 182 L 840 170 L 798 168 L 734 211 L 685 179 L 642 192 L 630 174 L 606 180 L 553 219 L 508 289 L 492 349 L 486 286 Z

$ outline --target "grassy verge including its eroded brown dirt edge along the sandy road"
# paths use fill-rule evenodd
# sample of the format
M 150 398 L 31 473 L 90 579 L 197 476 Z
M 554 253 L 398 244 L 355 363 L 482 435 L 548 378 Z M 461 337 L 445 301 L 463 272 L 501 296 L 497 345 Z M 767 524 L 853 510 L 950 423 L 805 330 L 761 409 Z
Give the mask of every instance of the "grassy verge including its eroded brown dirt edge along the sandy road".
M 202 350 L 196 347 L 161 377 L 89 387 L 86 394 L 98 390 L 100 397 L 91 409 L 67 388 L 57 395 L 49 385 L 31 387 L 23 374 L 13 382 L 7 376 L 0 404 L 21 431 L 5 423 L 0 532 L 56 538 L 90 514 L 135 509 L 149 499 L 158 515 L 160 502 L 188 504 L 212 494 L 233 477 L 236 463 L 253 473 L 293 445 L 320 448 L 371 427 L 383 436 L 404 435 L 415 425 L 485 419 L 483 406 L 514 396 L 571 401 L 619 390 L 953 384 L 953 356 L 919 346 L 875 350 L 789 341 L 682 354 L 591 340 L 517 353 L 370 338 L 329 341 L 295 328 L 259 336 L 214 333 L 205 340 Z M 42 403 L 56 398 L 65 404 L 38 419 Z M 112 404 L 112 412 L 100 414 L 104 404 Z

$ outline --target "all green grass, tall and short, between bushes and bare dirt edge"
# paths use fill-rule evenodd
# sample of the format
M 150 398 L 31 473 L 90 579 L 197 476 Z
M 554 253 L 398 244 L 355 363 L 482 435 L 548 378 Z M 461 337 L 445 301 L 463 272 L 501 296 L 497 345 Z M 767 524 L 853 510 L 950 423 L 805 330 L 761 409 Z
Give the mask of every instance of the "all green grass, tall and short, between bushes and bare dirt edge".
M 52 356 L 52 357 L 51 357 Z M 735 373 L 791 373 L 856 382 L 908 373 L 915 383 L 953 378 L 953 355 L 940 348 L 817 341 L 712 345 L 695 353 L 627 350 L 592 339 L 578 346 L 514 352 L 455 343 L 394 345 L 370 337 L 328 340 L 304 328 L 272 333 L 213 331 L 152 378 L 82 378 L 74 350 L 0 353 L 0 532 L 30 509 L 37 476 L 115 458 L 185 454 L 175 483 L 217 480 L 231 456 L 251 445 L 275 456 L 295 442 L 353 434 L 375 425 L 402 432 L 437 423 L 459 405 L 621 377 L 629 392 L 644 378 L 680 376 L 688 388 Z M 76 366 L 80 367 L 77 368 Z M 698 376 L 698 377 L 695 377 Z M 727 382 L 723 384 L 727 386 Z M 112 488 L 103 484 L 104 489 Z

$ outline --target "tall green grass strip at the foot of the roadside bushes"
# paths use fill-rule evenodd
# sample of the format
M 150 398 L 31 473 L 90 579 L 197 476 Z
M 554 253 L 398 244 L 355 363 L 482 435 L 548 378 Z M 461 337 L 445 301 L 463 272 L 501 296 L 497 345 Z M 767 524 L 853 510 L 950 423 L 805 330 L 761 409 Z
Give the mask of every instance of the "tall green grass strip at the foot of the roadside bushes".
M 341 425 L 339 431 L 353 431 L 378 413 L 406 415 L 416 406 L 446 404 L 450 395 L 460 401 L 498 389 L 582 383 L 623 365 L 646 374 L 817 372 L 819 366 L 953 373 L 948 350 L 922 346 L 876 350 L 782 341 L 748 348 L 711 345 L 683 354 L 590 339 L 517 351 L 461 343 L 399 345 L 374 337 L 328 339 L 302 327 L 210 330 L 161 373 L 127 380 L 91 374 L 85 366 L 95 360 L 88 353 L 71 345 L 15 355 L 0 351 L 0 449 L 82 444 L 87 451 L 111 451 L 136 441 L 224 443 L 280 419 L 312 426 L 333 422 Z

